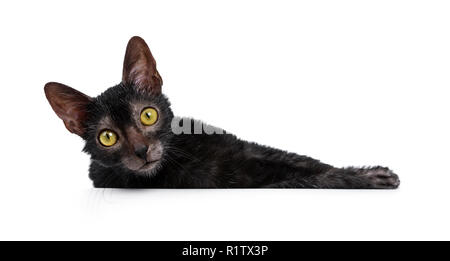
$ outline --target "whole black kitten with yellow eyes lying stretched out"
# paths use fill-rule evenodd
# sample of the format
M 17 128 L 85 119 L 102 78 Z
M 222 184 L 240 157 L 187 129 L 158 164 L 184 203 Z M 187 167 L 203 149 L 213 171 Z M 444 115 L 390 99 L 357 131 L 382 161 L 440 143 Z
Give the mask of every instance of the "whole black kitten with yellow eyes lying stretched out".
M 393 189 L 384 167 L 335 168 L 242 141 L 199 121 L 174 118 L 143 39 L 128 43 L 122 83 L 91 98 L 50 82 L 45 95 L 91 155 L 89 177 L 104 188 Z

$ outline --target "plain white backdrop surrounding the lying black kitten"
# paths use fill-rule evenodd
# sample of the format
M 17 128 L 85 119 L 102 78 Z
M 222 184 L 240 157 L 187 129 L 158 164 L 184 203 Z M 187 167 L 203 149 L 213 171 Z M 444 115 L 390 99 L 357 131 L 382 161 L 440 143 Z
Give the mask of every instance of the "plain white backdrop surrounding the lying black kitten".
M 2 1 L 0 239 L 449 240 L 448 1 Z M 175 114 L 394 191 L 93 189 L 44 96 L 119 83 L 133 35 Z

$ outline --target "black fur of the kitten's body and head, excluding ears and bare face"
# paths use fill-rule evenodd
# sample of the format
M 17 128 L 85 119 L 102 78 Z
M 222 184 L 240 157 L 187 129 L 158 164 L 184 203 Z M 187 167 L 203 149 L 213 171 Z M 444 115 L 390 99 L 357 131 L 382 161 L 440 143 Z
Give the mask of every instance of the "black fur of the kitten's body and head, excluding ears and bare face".
M 162 127 L 152 134 L 163 145 L 159 166 L 149 174 L 124 167 L 119 152 L 102 149 L 97 124 L 110 117 L 119 128 L 132 125 L 130 105 L 156 104 Z M 120 84 L 94 98 L 88 106 L 84 151 L 92 158 L 89 177 L 105 188 L 397 188 L 399 179 L 387 168 L 334 168 L 318 160 L 256 143 L 232 134 L 175 135 L 170 103 L 163 94 L 137 91 Z M 190 120 L 194 124 L 194 120 Z

